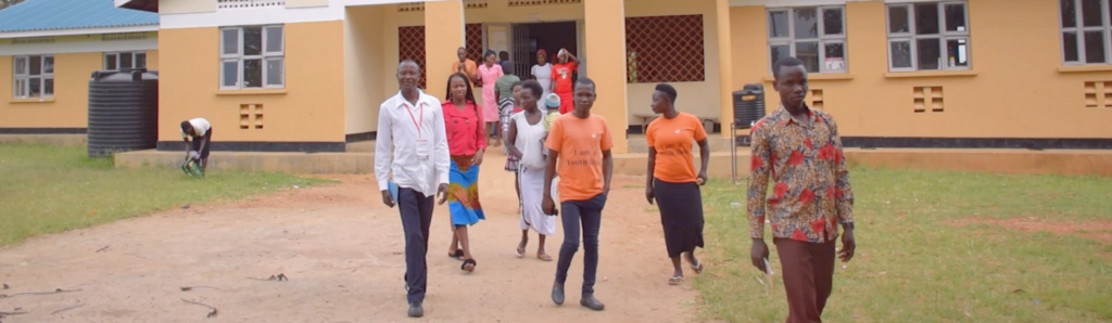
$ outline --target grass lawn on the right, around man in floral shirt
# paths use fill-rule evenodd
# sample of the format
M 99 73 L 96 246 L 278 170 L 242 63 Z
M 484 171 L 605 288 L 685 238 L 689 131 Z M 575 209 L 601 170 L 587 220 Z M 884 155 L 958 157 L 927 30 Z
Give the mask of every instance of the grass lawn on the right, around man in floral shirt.
M 824 320 L 1112 321 L 1112 179 L 855 169 L 851 182 L 857 251 L 837 264 Z M 749 263 L 745 182 L 703 194 L 704 319 L 784 322 L 771 235 L 771 295 Z

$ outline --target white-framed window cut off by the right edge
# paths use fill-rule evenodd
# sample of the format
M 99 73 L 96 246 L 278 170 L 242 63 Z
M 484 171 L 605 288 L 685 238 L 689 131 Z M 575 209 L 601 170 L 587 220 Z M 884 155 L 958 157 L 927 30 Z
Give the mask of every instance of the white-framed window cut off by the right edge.
M 1109 0 L 1060 0 L 1062 61 L 1065 64 L 1105 64 L 1112 34 Z

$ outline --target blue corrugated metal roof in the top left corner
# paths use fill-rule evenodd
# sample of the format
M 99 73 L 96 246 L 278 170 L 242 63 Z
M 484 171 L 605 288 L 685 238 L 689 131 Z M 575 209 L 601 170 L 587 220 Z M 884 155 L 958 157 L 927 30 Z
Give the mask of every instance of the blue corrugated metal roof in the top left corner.
M 158 24 L 158 13 L 116 8 L 112 0 L 27 0 L 0 10 L 0 32 Z

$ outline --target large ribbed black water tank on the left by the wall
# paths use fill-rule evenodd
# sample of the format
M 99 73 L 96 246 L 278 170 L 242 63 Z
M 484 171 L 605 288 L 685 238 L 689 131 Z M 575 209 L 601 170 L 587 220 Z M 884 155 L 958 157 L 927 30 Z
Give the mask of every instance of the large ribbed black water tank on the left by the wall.
M 89 157 L 153 149 L 158 143 L 158 72 L 96 71 L 89 80 Z

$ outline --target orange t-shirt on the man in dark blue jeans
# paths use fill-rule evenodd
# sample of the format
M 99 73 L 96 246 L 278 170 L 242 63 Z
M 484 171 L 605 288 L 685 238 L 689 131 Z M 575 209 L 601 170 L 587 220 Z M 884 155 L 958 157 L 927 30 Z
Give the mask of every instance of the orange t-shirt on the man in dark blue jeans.
M 614 148 L 606 119 L 592 114 L 556 118 L 545 147 L 559 152 L 559 201 L 586 201 L 603 193 L 603 151 Z

